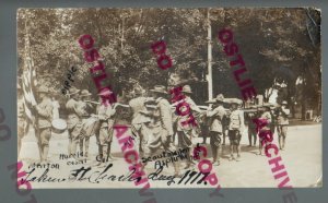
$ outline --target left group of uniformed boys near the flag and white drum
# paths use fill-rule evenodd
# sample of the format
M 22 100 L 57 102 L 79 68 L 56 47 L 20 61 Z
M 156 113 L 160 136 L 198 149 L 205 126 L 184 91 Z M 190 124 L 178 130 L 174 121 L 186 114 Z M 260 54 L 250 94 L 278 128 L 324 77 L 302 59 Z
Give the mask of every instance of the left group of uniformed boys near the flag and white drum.
M 34 123 L 35 135 L 37 138 L 40 162 L 48 162 L 49 141 L 51 132 L 56 130 L 54 129 L 54 121 L 59 119 L 58 109 L 60 106 L 50 96 L 50 92 L 46 86 L 40 86 L 37 92 L 39 103 L 32 108 L 32 114 L 37 118 Z M 26 114 L 26 108 L 24 108 L 21 95 L 21 87 L 19 86 L 19 154 L 22 139 L 28 132 L 24 120 L 26 118 L 24 115 Z M 65 107 L 61 107 L 67 115 L 65 129 L 68 130 L 69 138 L 68 154 L 75 156 L 77 147 L 79 146 L 80 155 L 87 157 L 90 138 L 95 134 L 98 145 L 97 159 L 108 162 L 108 159 L 113 159 L 110 146 L 116 109 L 110 105 L 102 105 L 101 97 L 98 103 L 91 101 L 91 95 L 87 89 L 80 91 L 71 87 L 67 103 Z

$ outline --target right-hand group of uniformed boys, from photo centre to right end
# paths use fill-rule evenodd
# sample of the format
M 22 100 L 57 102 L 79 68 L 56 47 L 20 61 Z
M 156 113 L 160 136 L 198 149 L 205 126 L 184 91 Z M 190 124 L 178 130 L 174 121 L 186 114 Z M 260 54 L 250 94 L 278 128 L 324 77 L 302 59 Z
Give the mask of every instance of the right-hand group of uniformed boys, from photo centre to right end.
M 156 85 L 152 92 L 152 97 L 143 96 L 144 92 L 140 87 L 133 91 L 133 98 L 129 105 L 132 108 L 132 133 L 139 141 L 139 151 L 142 156 L 155 154 L 159 148 L 174 151 L 175 148 L 189 148 L 186 167 L 192 163 L 192 146 L 198 136 L 203 138 L 206 144 L 207 136 L 210 136 L 212 151 L 212 163 L 220 165 L 222 154 L 221 143 L 225 145 L 225 138 L 230 140 L 230 160 L 241 159 L 241 139 L 242 134 L 248 130 L 249 146 L 256 145 L 259 129 L 256 128 L 254 119 L 266 119 L 272 133 L 277 128 L 280 148 L 284 150 L 286 128 L 289 124 L 288 116 L 290 110 L 283 101 L 279 108 L 271 104 L 262 106 L 251 106 L 242 109 L 243 101 L 237 98 L 224 98 L 222 94 L 214 99 L 206 101 L 208 107 L 197 106 L 192 100 L 192 91 L 189 85 L 183 86 L 180 94 L 183 99 L 173 99 L 177 95 L 169 94 L 165 86 Z M 175 103 L 169 104 L 168 100 Z M 188 104 L 179 105 L 181 103 Z M 178 108 L 183 106 L 181 108 Z M 184 109 L 185 108 L 185 109 Z M 202 108 L 202 109 L 201 109 Z M 189 114 L 181 114 L 190 111 Z M 190 117 L 195 121 L 190 121 Z M 187 124 L 186 122 L 189 121 Z M 246 128 L 247 126 L 248 128 Z M 175 140 L 177 139 L 177 145 Z M 223 140 L 223 142 L 221 142 Z M 259 155 L 262 146 L 259 142 Z M 174 163 L 173 163 L 174 164 Z M 174 164 L 176 174 L 178 168 Z

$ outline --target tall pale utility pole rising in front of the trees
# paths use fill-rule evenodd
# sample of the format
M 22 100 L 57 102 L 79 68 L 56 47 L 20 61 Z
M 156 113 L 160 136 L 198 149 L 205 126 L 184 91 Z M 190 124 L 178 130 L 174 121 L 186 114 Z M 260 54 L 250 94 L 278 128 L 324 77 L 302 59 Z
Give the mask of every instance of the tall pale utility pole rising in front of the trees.
M 210 9 L 208 9 L 208 91 L 209 91 L 209 99 L 213 98 L 213 75 L 212 75 L 212 27 L 210 21 Z

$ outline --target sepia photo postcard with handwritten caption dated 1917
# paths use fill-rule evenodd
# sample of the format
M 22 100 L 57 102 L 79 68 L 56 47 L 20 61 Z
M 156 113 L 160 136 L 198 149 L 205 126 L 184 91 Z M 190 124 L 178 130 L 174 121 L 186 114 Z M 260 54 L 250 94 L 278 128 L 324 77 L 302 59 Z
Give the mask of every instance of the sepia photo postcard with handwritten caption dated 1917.
M 323 186 L 319 9 L 16 17 L 21 184 Z

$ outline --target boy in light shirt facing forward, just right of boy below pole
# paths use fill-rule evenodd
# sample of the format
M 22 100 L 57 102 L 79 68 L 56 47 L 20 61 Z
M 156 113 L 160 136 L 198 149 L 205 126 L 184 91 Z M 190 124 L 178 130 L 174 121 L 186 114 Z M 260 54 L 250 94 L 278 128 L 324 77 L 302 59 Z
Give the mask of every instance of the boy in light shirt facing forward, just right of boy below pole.
M 239 142 L 242 139 L 242 129 L 244 129 L 244 114 L 238 109 L 239 100 L 233 99 L 231 101 L 231 115 L 230 115 L 230 124 L 229 124 L 229 140 L 230 140 L 230 160 L 236 159 L 239 160 Z M 233 155 L 234 148 L 237 153 L 235 158 Z

